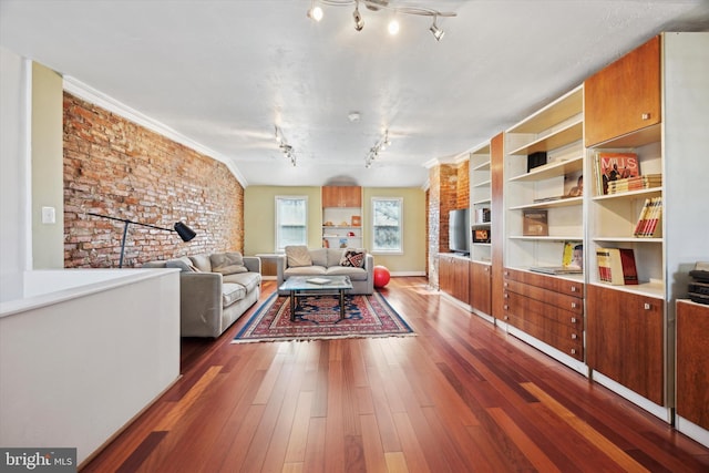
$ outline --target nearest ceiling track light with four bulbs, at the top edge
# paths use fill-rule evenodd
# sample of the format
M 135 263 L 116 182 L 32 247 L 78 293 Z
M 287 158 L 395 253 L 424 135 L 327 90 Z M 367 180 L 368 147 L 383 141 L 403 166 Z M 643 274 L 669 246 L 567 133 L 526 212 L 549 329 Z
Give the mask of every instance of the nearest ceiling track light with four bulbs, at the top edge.
M 389 0 L 312 0 L 310 4 L 310 9 L 308 10 L 308 18 L 314 19 L 315 21 L 320 21 L 323 17 L 322 9 L 319 4 L 327 4 L 333 7 L 349 7 L 354 6 L 354 11 L 352 12 L 352 18 L 354 20 L 354 29 L 357 31 L 362 31 L 364 28 L 364 20 L 359 11 L 359 4 L 362 3 L 370 11 L 380 11 L 380 10 L 389 10 L 394 13 L 394 16 L 402 14 L 417 14 L 420 17 L 433 17 L 433 24 L 429 28 L 429 31 L 433 33 L 433 38 L 436 41 L 441 41 L 445 32 L 439 28 L 436 24 L 436 20 L 439 17 L 456 17 L 458 13 L 452 11 L 439 11 L 428 7 L 392 7 Z M 390 34 L 397 34 L 399 32 L 399 21 L 397 18 L 393 18 L 388 25 Z

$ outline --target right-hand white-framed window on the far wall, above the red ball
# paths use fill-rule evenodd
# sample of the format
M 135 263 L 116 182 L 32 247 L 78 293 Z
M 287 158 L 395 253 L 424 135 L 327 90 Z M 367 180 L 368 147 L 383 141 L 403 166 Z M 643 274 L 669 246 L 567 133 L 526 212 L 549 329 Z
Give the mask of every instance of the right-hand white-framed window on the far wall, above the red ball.
M 403 253 L 403 198 L 372 197 L 372 253 Z

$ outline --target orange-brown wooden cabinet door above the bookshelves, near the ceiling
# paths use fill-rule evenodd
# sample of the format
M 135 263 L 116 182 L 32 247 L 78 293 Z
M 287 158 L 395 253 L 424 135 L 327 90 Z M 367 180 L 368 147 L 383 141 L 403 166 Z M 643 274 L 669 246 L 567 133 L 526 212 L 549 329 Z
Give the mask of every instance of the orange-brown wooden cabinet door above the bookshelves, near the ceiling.
M 588 78 L 586 146 L 660 122 L 660 37 Z

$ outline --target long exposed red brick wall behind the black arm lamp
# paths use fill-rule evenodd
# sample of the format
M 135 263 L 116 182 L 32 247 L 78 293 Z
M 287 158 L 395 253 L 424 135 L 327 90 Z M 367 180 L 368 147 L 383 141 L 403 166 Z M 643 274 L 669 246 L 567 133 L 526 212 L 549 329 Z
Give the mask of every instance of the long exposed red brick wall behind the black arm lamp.
M 130 225 L 124 267 L 244 249 L 244 188 L 226 165 L 64 92 L 64 267 L 117 267 L 123 224 L 88 212 L 197 233 Z

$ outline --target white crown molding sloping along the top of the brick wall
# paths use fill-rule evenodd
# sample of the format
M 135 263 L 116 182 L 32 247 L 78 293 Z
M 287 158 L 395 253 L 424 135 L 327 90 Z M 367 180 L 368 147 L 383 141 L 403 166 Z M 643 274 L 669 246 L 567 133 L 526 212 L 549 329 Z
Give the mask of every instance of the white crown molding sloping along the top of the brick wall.
M 150 116 L 138 112 L 135 109 L 130 107 L 129 105 L 120 102 L 112 96 L 104 94 L 96 89 L 93 89 L 90 85 L 84 84 L 83 82 L 72 78 L 70 75 L 63 76 L 64 90 L 73 95 L 76 95 L 85 101 L 89 101 L 95 105 L 101 106 L 102 109 L 107 110 L 109 112 L 115 113 L 116 115 L 121 115 L 125 120 L 130 120 L 133 123 L 136 123 L 152 132 L 155 132 L 162 136 L 165 136 L 168 140 L 172 140 L 176 143 L 185 145 L 191 150 L 194 150 L 198 153 L 202 153 L 213 160 L 216 160 L 223 163 L 234 175 L 236 181 L 242 185 L 242 187 L 246 188 L 248 186 L 248 182 L 244 177 L 244 175 L 236 168 L 234 163 L 227 156 L 217 153 L 216 151 L 204 146 L 201 143 L 183 135 L 182 133 L 176 132 L 164 123 L 158 122 L 157 120 L 151 119 Z

